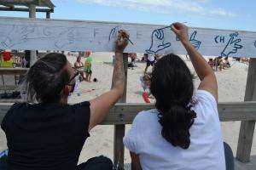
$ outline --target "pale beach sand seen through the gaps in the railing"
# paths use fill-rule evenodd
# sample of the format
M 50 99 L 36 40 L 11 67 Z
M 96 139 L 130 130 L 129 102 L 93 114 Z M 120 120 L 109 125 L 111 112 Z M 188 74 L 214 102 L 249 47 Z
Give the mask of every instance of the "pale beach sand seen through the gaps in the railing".
M 94 99 L 97 96 L 107 92 L 111 87 L 113 65 L 112 55 L 106 53 L 93 54 L 92 79 L 96 77 L 98 82 L 80 82 L 79 91 L 73 94 L 70 103 L 78 103 L 84 100 Z M 71 63 L 74 63 L 75 57 L 69 57 Z M 84 59 L 82 59 L 84 61 Z M 186 61 L 192 69 L 191 62 Z M 143 75 L 145 63 L 137 63 L 134 70 L 128 70 L 127 84 L 127 103 L 144 103 L 142 97 L 142 88 L 140 86 L 139 77 Z M 243 101 L 246 82 L 247 82 L 248 65 L 236 62 L 228 70 L 217 71 L 218 79 L 218 96 L 219 102 L 235 102 Z M 195 77 L 195 87 L 198 87 L 199 79 Z M 239 136 L 240 122 L 222 122 L 222 132 L 224 141 L 230 144 L 234 155 L 236 156 L 236 147 Z M 126 126 L 126 131 L 131 125 Z M 0 150 L 7 148 L 6 139 L 3 131 L 0 131 Z M 113 126 L 97 126 L 90 132 L 90 138 L 86 140 L 84 149 L 82 150 L 79 162 L 86 161 L 93 156 L 108 156 L 113 159 Z M 256 136 L 253 139 L 252 160 L 256 162 Z M 125 163 L 130 163 L 131 159 L 128 150 L 125 150 Z M 236 166 L 240 166 L 236 163 Z M 255 166 L 249 163 L 248 169 Z

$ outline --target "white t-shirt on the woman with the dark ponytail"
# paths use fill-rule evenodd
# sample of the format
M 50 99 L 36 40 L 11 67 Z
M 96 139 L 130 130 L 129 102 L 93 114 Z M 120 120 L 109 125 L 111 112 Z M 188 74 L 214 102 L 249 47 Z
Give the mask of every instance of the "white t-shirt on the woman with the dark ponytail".
M 188 150 L 174 147 L 162 137 L 157 110 L 136 116 L 124 144 L 139 155 L 143 170 L 225 170 L 216 100 L 204 90 L 198 90 L 194 98 L 197 103 L 192 109 L 197 117 L 189 129 Z

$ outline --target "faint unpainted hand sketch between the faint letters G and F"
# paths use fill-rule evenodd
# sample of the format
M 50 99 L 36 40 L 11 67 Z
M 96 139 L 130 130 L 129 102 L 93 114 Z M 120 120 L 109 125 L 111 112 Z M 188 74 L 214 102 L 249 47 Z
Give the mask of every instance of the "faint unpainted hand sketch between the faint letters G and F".
M 74 31 L 75 28 L 67 28 L 65 31 L 61 31 L 61 33 L 58 36 L 58 39 L 55 42 L 56 48 L 63 48 L 66 45 L 73 44 L 75 41 L 75 34 Z

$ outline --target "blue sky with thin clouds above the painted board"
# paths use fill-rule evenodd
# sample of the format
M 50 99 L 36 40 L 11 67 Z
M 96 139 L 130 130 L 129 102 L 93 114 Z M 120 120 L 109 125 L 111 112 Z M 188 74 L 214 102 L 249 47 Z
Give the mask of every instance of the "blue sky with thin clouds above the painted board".
M 104 20 L 256 31 L 255 0 L 52 0 L 54 19 Z M 27 17 L 27 13 L 0 12 Z M 45 14 L 38 14 L 43 18 Z

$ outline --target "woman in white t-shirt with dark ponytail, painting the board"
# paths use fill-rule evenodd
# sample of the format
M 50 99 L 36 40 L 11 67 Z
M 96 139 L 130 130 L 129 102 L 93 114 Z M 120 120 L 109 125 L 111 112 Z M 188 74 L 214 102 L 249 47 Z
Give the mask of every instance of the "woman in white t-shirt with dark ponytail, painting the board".
M 216 77 L 189 42 L 188 27 L 174 23 L 172 31 L 187 50 L 201 83 L 194 92 L 193 75 L 175 54 L 155 64 L 150 91 L 156 108 L 140 112 L 124 138 L 131 169 L 225 170 Z

